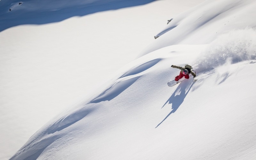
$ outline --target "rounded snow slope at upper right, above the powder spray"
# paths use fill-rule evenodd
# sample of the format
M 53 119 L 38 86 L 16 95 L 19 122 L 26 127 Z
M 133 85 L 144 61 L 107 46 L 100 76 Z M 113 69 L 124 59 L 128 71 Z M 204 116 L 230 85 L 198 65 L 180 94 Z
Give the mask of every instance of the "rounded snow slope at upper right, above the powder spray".
M 254 0 L 207 0 L 173 18 L 141 55 L 173 44 L 209 44 L 230 30 L 254 28 L 255 6 Z

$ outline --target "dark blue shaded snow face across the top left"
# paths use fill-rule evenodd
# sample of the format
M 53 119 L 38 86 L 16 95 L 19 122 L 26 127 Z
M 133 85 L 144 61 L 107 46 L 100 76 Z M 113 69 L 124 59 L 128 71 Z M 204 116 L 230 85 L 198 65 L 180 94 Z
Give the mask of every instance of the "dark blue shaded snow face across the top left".
M 73 16 L 137 6 L 154 0 L 8 0 L 1 1 L 0 31 L 22 24 L 59 22 Z

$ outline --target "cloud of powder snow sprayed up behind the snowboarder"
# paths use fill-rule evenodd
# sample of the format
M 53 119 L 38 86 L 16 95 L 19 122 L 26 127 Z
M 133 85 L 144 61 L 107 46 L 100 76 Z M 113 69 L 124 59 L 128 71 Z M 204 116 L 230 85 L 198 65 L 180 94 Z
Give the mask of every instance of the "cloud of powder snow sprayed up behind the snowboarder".
M 246 28 L 220 35 L 201 53 L 195 68 L 205 71 L 226 63 L 252 59 L 256 53 L 256 30 Z M 200 69 L 199 69 L 200 68 Z

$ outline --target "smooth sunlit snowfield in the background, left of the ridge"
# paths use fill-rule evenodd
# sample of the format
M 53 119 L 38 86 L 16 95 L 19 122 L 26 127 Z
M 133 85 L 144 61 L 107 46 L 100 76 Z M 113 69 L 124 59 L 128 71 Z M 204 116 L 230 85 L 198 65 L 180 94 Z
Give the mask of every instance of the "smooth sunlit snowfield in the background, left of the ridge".
M 155 1 L 43 25 L 8 28 L 11 23 L 0 21 L 0 28 L 8 28 L 0 32 L 0 159 L 9 159 L 52 117 L 102 88 L 116 68 L 155 40 L 154 32 L 171 16 L 202 1 Z M 1 0 L 0 7 L 6 2 Z M 31 11 L 26 20 L 37 12 L 41 10 Z

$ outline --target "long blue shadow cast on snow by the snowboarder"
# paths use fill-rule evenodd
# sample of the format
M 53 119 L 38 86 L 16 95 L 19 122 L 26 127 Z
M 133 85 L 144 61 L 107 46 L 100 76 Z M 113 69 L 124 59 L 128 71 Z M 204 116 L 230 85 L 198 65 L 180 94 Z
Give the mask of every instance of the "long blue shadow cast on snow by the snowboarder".
M 172 111 L 156 127 L 158 127 L 160 124 L 162 124 L 165 121 L 165 119 L 167 119 L 172 113 L 174 113 L 180 107 L 180 105 L 183 103 L 185 97 L 187 96 L 188 92 L 190 91 L 190 89 L 192 88 L 192 86 L 194 84 L 195 84 L 195 82 L 193 82 L 193 80 L 192 80 L 192 82 L 191 81 L 185 81 L 185 83 L 181 83 L 177 87 L 177 89 L 172 93 L 172 96 L 164 103 L 164 106 L 167 103 L 172 104 Z M 186 88 L 188 88 L 188 89 L 186 90 Z

